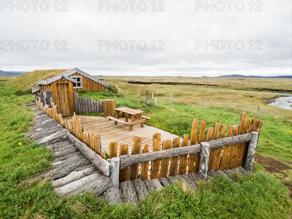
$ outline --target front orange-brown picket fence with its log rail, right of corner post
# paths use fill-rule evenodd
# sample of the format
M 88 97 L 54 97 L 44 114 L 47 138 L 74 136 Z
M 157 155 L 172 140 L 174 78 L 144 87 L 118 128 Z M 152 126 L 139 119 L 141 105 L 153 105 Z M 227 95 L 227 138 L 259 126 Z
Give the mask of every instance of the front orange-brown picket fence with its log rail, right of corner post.
M 136 136 L 133 139 L 134 143 L 131 155 L 128 155 L 127 144 L 120 145 L 119 182 L 124 182 L 127 180 L 132 181 L 138 177 L 140 177 L 141 180 L 146 180 L 148 177 L 150 179 L 156 179 L 161 177 L 166 178 L 168 176 L 198 173 L 200 170 L 200 164 L 202 163 L 200 161 L 200 144 L 210 141 L 213 145 L 207 149 L 208 152 L 206 154 L 206 159 L 208 160 L 206 162 L 206 171 L 233 169 L 238 166 L 244 166 L 247 157 L 248 145 L 252 139 L 252 133 L 250 132 L 259 132 L 262 124 L 263 122 L 261 120 L 249 118 L 246 116 L 246 112 L 243 112 L 239 126 L 230 126 L 227 130 L 227 136 L 225 137 L 226 124 L 219 126 L 219 124 L 216 123 L 214 127 L 207 128 L 205 134 L 206 121 L 201 120 L 199 128 L 199 120 L 194 119 L 192 121 L 190 140 L 189 135 L 184 134 L 182 144 L 180 144 L 180 137 L 174 138 L 173 140 L 165 140 L 162 143 L 161 134 L 156 133 L 153 136 L 153 152 L 150 153 L 148 144 L 145 144 L 141 151 L 142 138 Z M 183 151 L 184 148 L 180 147 L 186 147 L 190 150 Z M 118 142 L 110 143 L 110 159 L 118 157 L 117 148 Z M 167 150 L 169 151 L 168 155 Z M 180 154 L 177 153 L 179 150 Z M 191 150 L 196 151 L 196 153 L 192 153 Z M 151 156 L 153 159 L 151 159 Z M 157 159 L 158 157 L 163 158 Z

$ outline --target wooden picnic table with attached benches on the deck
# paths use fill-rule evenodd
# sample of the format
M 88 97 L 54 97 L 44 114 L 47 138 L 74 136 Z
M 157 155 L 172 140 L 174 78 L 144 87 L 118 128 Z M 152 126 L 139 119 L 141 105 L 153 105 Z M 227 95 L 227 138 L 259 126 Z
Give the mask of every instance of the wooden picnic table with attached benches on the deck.
M 144 111 L 141 110 L 134 110 L 127 107 L 114 108 L 114 110 L 115 117 L 108 116 L 107 118 L 114 120 L 114 125 L 117 125 L 119 122 L 125 124 L 125 126 L 129 126 L 130 131 L 133 130 L 133 126 L 136 124 L 141 124 L 141 128 L 143 128 L 144 123 L 150 119 L 149 117 L 144 116 Z M 121 118 L 125 118 L 125 121 L 121 120 Z

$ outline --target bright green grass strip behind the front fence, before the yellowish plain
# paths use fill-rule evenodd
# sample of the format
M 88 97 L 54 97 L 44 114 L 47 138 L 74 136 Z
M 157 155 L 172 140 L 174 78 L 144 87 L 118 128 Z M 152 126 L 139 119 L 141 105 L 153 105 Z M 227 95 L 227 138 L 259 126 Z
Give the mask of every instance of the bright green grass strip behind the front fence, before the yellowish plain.
M 206 120 L 206 127 L 215 123 L 225 123 L 227 126 L 239 125 L 241 112 L 216 107 L 195 107 L 181 103 L 158 102 L 157 106 L 148 107 L 143 97 L 132 94 L 112 93 L 108 91 L 81 91 L 79 96 L 94 99 L 115 99 L 116 105 L 132 109 L 142 109 L 151 117 L 148 125 L 161 128 L 173 134 L 183 136 L 190 134 L 194 118 Z M 153 101 L 152 101 L 153 102 Z M 152 103 L 153 104 L 153 103 Z M 292 124 L 288 119 L 279 116 L 249 114 L 264 121 L 261 129 L 257 152 L 285 163 L 292 160 Z

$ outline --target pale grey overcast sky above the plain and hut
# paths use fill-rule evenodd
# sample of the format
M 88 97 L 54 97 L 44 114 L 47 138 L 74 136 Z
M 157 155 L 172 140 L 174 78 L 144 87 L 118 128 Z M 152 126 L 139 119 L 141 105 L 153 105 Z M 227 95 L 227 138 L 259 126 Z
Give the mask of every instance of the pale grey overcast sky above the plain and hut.
M 291 0 L 54 2 L 1 1 L 0 70 L 292 74 Z

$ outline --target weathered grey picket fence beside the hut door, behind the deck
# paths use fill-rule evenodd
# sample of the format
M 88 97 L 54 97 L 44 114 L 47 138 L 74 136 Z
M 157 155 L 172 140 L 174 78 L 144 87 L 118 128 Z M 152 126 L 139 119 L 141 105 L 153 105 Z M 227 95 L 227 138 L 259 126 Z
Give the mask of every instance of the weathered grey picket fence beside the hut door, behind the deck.
M 74 91 L 74 108 L 76 113 L 104 112 L 104 103 L 91 97 L 79 97 Z

